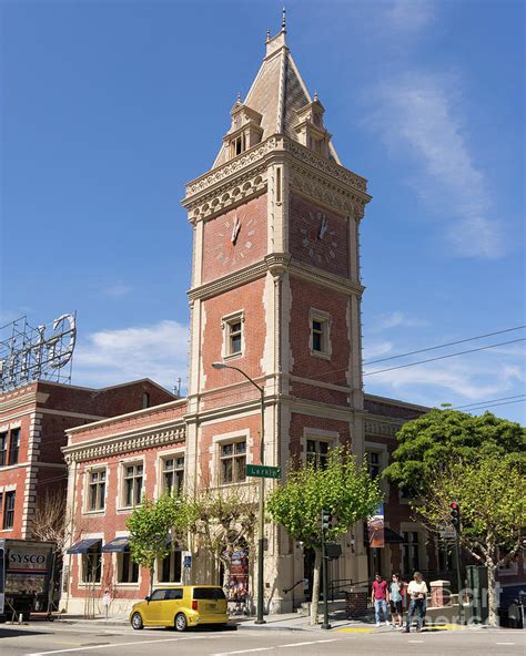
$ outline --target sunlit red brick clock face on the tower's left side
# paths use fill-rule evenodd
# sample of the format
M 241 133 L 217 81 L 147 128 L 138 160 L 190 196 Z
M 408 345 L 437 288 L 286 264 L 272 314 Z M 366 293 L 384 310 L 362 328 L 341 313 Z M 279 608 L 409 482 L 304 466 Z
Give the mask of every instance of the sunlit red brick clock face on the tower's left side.
M 241 229 L 232 244 L 235 217 Z M 231 271 L 257 262 L 266 255 L 266 194 L 204 224 L 203 283 L 221 278 Z

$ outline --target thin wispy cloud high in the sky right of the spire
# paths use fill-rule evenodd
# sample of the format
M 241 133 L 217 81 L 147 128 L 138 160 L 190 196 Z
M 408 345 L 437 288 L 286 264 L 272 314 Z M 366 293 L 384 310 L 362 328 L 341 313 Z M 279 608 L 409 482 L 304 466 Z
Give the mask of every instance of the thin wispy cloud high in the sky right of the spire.
M 499 222 L 466 139 L 459 88 L 457 79 L 432 72 L 390 79 L 370 96 L 375 110 L 367 123 L 397 158 L 413 157 L 413 184 L 439 215 L 455 250 L 496 258 L 503 252 Z

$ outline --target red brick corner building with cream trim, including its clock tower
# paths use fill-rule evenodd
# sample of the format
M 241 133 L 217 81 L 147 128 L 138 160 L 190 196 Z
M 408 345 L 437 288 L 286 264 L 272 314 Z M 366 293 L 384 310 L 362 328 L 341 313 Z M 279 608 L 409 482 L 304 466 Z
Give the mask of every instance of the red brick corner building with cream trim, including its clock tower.
M 261 397 L 239 371 L 214 362 L 241 369 L 263 389 L 264 461 L 283 475 L 291 459 L 321 461 L 338 443 L 367 454 L 378 473 L 396 430 L 425 411 L 377 397 L 366 397 L 364 408 L 358 226 L 371 197 L 366 181 L 342 166 L 284 29 L 267 39 L 231 117 L 212 168 L 186 185 L 183 201 L 193 228 L 188 398 L 67 431 L 73 544 L 61 607 L 70 613 L 90 598 L 102 611 L 105 590 L 111 613 L 148 594 L 148 572 L 133 567 L 125 527 L 143 494 L 160 495 L 175 478 L 191 495 L 249 485 L 245 464 L 260 463 Z M 266 492 L 275 484 L 267 480 Z M 391 491 L 393 509 L 397 501 Z M 385 550 L 370 550 L 363 525 L 354 526 L 331 580 L 366 582 L 374 567 L 413 567 L 418 553 L 419 567 L 428 566 L 425 532 L 404 524 L 407 515 L 394 512 L 398 540 Z M 401 544 L 394 531 L 413 529 L 411 544 Z M 266 524 L 265 609 L 290 612 L 304 601 L 297 584 L 312 575 L 311 555 Z M 218 564 L 192 537 L 158 563 L 154 585 L 219 580 Z

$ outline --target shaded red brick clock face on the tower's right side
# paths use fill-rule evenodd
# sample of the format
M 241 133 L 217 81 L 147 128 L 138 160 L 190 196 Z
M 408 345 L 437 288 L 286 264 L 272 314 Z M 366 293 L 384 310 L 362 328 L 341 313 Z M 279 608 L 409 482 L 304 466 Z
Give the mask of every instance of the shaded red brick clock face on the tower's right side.
M 320 238 L 323 217 L 327 222 L 327 230 L 323 238 Z M 348 225 L 346 218 L 315 205 L 303 196 L 291 194 L 289 235 L 290 252 L 294 258 L 331 274 L 348 277 Z

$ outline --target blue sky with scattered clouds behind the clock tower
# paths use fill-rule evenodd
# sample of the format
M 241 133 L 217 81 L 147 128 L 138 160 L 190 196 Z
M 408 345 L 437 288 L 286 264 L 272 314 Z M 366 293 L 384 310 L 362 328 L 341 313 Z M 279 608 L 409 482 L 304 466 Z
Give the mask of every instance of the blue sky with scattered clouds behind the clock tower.
M 183 185 L 210 167 L 280 13 L 272 0 L 1 4 L 1 318 L 77 310 L 74 383 L 184 387 Z M 526 324 L 524 3 L 294 1 L 287 17 L 340 157 L 373 195 L 365 359 Z M 366 391 L 507 403 L 525 392 L 525 344 L 371 375 Z M 525 406 L 492 409 L 524 422 Z

